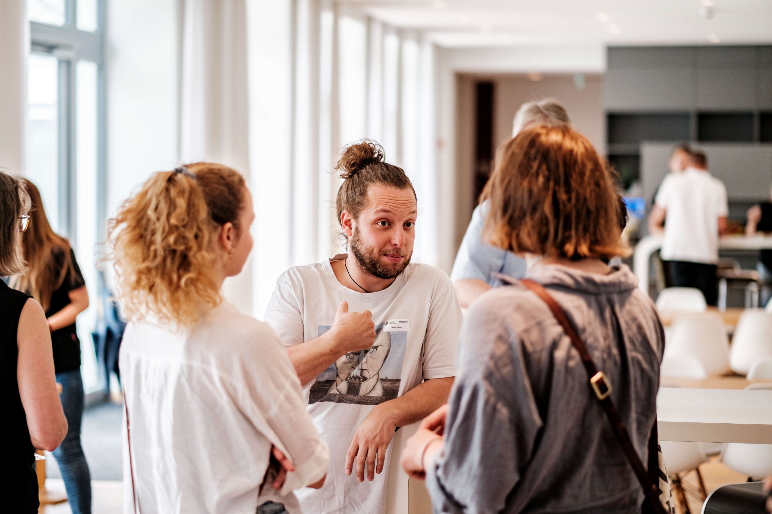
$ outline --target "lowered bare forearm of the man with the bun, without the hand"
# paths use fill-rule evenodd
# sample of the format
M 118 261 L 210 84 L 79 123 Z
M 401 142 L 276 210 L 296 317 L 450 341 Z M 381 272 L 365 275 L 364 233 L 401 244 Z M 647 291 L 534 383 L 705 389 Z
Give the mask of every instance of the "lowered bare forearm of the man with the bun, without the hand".
M 401 427 L 421 421 L 448 402 L 453 378 L 432 378 L 415 386 L 399 398 L 384 401 L 379 408 L 387 412 L 395 426 Z

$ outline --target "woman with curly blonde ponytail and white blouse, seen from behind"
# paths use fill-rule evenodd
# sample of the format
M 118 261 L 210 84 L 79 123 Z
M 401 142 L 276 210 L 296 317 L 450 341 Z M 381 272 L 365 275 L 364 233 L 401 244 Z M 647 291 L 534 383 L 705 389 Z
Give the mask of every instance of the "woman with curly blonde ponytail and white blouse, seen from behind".
M 293 489 L 323 483 L 327 446 L 283 344 L 220 293 L 254 217 L 238 172 L 195 163 L 154 173 L 110 220 L 126 512 L 298 512 Z

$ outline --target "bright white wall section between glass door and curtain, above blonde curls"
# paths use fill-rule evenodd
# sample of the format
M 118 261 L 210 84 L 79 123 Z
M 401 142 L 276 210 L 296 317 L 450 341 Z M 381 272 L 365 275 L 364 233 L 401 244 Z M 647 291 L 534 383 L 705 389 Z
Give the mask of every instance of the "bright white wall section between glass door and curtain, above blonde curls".
M 176 0 L 107 8 L 107 215 L 154 171 L 178 166 Z

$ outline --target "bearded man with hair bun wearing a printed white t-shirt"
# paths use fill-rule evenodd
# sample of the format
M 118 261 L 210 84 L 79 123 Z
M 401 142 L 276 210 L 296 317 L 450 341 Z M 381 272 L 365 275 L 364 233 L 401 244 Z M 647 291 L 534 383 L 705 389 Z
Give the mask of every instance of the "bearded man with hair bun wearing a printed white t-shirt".
M 447 401 L 462 314 L 449 277 L 410 262 L 418 202 L 405 172 L 368 140 L 336 169 L 350 252 L 287 270 L 266 321 L 330 447 L 327 483 L 299 494 L 303 511 L 378 514 L 394 431 Z

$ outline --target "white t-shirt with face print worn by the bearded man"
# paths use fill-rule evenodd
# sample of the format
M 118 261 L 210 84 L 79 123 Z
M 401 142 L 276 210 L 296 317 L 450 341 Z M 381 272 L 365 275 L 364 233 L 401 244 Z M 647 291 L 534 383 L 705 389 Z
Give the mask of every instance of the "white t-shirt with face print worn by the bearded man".
M 375 405 L 424 379 L 455 376 L 461 308 L 449 277 L 435 267 L 409 264 L 384 291 L 358 293 L 340 284 L 325 260 L 279 277 L 266 321 L 284 344 L 300 344 L 330 329 L 341 301 L 350 312 L 371 311 L 375 343 L 345 354 L 303 388 L 313 422 L 330 447 L 330 472 L 322 489 L 298 492 L 298 499 L 306 513 L 379 514 L 391 445 L 383 472 L 373 482 L 357 482 L 356 472 L 344 473 L 354 432 Z

